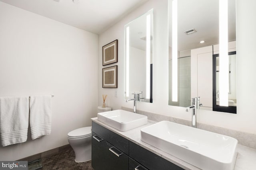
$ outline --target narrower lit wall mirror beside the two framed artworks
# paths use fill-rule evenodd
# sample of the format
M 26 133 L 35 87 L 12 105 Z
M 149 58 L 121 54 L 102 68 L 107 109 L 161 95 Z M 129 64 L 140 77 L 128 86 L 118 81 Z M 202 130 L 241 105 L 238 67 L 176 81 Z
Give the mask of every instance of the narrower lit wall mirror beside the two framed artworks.
M 153 9 L 124 26 L 125 98 L 138 94 L 138 102 L 153 102 Z

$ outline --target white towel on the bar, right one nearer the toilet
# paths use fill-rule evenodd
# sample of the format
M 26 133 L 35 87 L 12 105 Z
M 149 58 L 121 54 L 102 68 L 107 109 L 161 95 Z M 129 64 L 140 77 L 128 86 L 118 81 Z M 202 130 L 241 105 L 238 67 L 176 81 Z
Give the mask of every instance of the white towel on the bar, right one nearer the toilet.
M 30 96 L 30 128 L 32 139 L 51 134 L 51 95 Z

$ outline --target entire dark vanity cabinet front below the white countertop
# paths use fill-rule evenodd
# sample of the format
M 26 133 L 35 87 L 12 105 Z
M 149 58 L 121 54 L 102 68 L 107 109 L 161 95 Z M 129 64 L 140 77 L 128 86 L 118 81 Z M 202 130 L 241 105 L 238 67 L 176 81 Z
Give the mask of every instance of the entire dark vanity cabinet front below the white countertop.
M 177 165 L 92 122 L 94 170 L 182 170 Z

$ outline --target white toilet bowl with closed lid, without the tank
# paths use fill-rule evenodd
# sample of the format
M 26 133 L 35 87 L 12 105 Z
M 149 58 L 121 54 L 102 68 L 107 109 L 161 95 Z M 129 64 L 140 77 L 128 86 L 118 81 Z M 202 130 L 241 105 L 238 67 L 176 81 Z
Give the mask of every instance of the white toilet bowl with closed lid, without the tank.
M 68 143 L 73 148 L 76 162 L 92 159 L 92 127 L 82 127 L 68 133 Z

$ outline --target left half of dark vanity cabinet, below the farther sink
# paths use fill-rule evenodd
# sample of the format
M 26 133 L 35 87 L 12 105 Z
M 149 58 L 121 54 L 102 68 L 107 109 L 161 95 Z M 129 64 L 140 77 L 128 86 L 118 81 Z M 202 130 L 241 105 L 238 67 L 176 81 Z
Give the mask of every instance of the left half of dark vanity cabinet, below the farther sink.
M 92 122 L 92 167 L 94 170 L 128 170 L 129 141 Z

